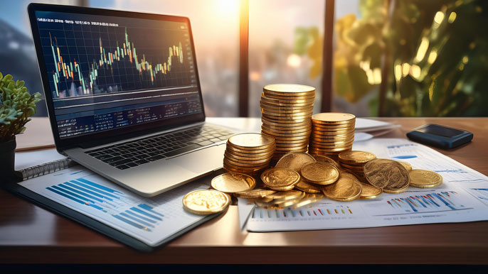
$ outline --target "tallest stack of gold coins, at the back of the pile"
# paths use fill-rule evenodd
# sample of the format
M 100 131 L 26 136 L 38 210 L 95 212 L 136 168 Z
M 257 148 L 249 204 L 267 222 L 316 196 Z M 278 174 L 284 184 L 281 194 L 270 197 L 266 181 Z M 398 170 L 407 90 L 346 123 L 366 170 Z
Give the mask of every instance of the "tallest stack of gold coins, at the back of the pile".
M 261 94 L 261 132 L 276 141 L 273 162 L 291 152 L 306 152 L 315 89 L 301 84 L 268 84 Z

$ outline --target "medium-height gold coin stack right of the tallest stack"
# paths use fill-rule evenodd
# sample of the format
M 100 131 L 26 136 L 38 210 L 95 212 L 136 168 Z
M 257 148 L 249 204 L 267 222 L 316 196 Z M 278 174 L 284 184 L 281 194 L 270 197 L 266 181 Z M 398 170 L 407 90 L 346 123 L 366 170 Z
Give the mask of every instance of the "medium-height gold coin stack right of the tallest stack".
M 337 160 L 338 155 L 351 150 L 354 142 L 353 114 L 326 112 L 312 116 L 309 153 Z

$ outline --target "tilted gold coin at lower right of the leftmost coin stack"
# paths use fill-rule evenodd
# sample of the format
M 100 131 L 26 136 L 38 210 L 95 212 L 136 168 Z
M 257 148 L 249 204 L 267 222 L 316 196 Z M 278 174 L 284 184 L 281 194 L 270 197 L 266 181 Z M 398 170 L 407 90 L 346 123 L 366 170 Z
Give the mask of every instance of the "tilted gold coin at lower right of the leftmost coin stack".
M 288 168 L 270 168 L 262 172 L 262 182 L 272 190 L 290 190 L 300 181 L 300 175 Z

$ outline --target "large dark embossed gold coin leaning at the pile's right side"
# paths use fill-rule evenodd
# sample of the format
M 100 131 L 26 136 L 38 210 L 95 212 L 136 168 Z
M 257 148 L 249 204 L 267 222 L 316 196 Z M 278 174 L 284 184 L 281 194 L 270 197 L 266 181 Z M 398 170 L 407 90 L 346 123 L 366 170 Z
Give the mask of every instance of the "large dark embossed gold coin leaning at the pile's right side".
M 388 190 L 401 190 L 408 186 L 410 176 L 408 171 L 394 160 L 374 159 L 364 165 L 364 175 L 368 182 L 375 186 Z

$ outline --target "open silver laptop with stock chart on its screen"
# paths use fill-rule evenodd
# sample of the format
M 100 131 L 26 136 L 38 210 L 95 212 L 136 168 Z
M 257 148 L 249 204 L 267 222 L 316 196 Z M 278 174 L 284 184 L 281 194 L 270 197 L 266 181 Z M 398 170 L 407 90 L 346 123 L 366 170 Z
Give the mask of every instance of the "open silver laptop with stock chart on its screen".
M 30 4 L 56 149 L 144 197 L 223 165 L 189 18 Z

